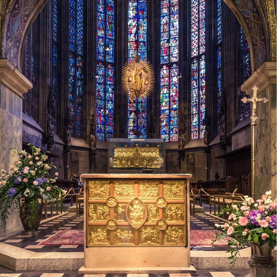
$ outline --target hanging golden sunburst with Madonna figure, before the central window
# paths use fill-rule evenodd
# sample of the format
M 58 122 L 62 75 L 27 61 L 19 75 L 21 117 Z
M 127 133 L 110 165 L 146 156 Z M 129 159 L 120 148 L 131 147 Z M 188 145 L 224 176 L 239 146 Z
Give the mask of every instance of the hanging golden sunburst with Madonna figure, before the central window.
M 125 63 L 122 70 L 122 87 L 131 98 L 150 96 L 154 89 L 154 69 L 150 62 L 136 59 Z

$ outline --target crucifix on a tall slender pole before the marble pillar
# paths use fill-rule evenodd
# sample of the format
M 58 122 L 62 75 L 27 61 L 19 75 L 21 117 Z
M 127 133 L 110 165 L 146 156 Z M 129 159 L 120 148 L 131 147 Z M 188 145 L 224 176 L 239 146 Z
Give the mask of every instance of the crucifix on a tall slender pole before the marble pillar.
M 255 199 L 255 186 L 254 186 L 254 182 L 255 182 L 255 152 L 254 152 L 254 147 L 255 147 L 255 126 L 257 125 L 256 120 L 257 120 L 257 115 L 256 115 L 256 105 L 258 102 L 263 102 L 266 103 L 268 102 L 267 98 L 258 98 L 257 97 L 257 91 L 259 90 L 259 88 L 257 86 L 252 87 L 252 91 L 253 91 L 253 97 L 252 98 L 242 98 L 242 102 L 246 103 L 246 102 L 252 102 L 252 122 L 251 122 L 251 126 L 252 126 L 252 197 L 253 199 Z

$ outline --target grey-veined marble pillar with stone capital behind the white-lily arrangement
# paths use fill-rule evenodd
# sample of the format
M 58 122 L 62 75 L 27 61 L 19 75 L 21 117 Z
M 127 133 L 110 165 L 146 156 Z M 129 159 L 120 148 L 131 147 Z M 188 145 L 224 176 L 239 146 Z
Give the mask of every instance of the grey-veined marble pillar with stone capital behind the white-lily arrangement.
M 32 83 L 6 59 L 0 59 L 0 168 L 9 171 L 10 147 L 22 149 L 23 93 Z M 11 209 L 7 230 L 20 226 L 16 209 Z

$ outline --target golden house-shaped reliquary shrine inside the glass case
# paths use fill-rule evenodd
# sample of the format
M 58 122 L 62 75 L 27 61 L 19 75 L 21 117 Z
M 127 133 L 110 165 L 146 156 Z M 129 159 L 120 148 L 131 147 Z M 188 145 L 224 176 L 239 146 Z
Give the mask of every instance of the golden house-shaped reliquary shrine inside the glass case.
M 161 168 L 159 160 L 159 145 L 157 147 L 117 147 L 114 145 L 113 167 L 149 167 Z

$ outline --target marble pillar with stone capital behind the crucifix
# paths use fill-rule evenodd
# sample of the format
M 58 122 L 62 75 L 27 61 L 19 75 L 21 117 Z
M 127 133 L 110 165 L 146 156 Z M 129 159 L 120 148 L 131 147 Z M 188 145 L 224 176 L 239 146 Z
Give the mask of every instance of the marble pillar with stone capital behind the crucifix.
M 272 190 L 273 198 L 276 198 L 276 62 L 263 63 L 243 83 L 241 89 L 253 97 L 254 85 L 259 88 L 257 96 L 269 100 L 265 104 L 257 103 L 258 119 L 254 145 L 255 198 L 259 199 L 268 190 Z

